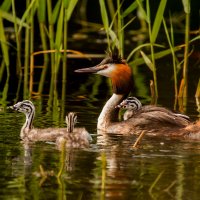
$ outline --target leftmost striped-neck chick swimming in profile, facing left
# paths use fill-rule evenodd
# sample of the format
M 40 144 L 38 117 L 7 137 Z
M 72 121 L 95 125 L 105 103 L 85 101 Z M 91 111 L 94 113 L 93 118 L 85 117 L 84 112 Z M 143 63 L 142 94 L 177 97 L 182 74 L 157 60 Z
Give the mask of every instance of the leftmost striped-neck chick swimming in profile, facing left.
M 21 128 L 20 138 L 27 142 L 36 141 L 53 141 L 57 137 L 64 135 L 67 132 L 66 128 L 34 128 L 33 120 L 35 116 L 35 106 L 29 100 L 24 100 L 11 106 L 12 109 L 22 112 L 26 116 L 26 121 Z

